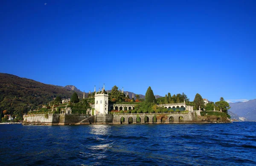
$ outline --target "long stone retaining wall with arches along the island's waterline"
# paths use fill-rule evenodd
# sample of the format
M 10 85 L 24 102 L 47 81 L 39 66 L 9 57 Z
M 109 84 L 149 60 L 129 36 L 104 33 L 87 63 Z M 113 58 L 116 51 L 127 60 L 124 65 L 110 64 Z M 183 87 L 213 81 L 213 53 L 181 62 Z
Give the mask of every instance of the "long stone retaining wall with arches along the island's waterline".
M 155 123 L 188 123 L 196 120 L 195 112 L 192 113 L 141 113 L 141 114 L 99 114 L 91 116 L 88 114 L 32 114 L 24 115 L 23 124 L 34 125 L 79 125 L 79 124 L 129 124 L 153 123 L 153 117 L 157 118 Z M 121 123 L 121 118 L 124 122 Z M 140 119 L 137 121 L 137 117 Z M 146 118 L 145 118 L 146 117 Z

